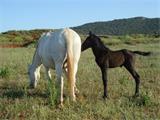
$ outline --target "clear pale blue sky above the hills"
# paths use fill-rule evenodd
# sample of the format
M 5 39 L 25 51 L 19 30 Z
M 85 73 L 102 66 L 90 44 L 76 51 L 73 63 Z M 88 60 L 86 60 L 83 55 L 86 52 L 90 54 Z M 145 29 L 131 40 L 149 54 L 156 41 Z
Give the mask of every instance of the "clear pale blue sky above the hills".
M 137 16 L 160 18 L 160 0 L 0 0 L 0 32 L 58 29 Z

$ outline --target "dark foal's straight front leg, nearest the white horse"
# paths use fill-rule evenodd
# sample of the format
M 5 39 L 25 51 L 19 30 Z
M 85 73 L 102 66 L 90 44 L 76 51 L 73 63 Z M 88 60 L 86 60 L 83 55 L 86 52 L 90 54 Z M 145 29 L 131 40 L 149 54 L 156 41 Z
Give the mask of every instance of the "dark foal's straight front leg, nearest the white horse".
M 107 93 L 107 67 L 102 66 L 100 68 L 101 68 L 101 72 L 102 72 L 102 80 L 103 80 L 103 86 L 104 86 L 103 98 L 105 99 L 108 97 L 108 93 Z

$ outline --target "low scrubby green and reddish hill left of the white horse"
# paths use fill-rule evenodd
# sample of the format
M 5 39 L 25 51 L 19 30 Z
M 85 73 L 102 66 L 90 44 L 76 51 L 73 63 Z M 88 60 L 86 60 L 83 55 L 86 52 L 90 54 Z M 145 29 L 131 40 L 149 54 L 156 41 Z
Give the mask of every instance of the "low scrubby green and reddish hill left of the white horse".
M 25 47 L 39 39 L 51 29 L 11 30 L 0 34 L 0 47 Z

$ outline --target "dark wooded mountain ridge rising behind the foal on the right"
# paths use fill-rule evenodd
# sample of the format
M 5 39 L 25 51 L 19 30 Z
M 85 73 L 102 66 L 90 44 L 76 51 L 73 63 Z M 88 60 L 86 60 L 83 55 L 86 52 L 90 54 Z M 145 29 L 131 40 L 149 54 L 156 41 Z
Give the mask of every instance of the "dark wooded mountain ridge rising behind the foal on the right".
M 98 35 L 160 34 L 160 18 L 134 17 L 116 19 L 87 23 L 72 27 L 72 29 L 80 34 L 88 34 L 89 31 Z

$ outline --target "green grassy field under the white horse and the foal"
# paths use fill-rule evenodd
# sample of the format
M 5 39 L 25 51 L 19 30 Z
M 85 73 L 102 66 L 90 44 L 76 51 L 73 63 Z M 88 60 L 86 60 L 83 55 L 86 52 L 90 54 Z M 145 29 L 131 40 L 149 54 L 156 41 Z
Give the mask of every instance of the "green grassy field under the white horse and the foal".
M 136 39 L 135 39 L 136 40 Z M 105 41 L 105 39 L 104 39 Z M 140 96 L 133 98 L 135 83 L 125 68 L 110 69 L 108 74 L 109 99 L 104 101 L 100 69 L 91 50 L 81 54 L 77 74 L 80 90 L 77 102 L 65 97 L 64 107 L 51 104 L 44 70 L 38 87 L 28 89 L 27 66 L 34 48 L 0 48 L 0 119 L 10 120 L 159 120 L 160 119 L 160 44 L 156 42 L 116 44 L 113 50 L 151 51 L 148 57 L 137 55 L 136 70 L 141 76 Z M 118 42 L 117 42 L 118 41 Z M 138 41 L 138 40 L 137 40 Z M 159 40 L 160 41 L 160 40 Z M 107 42 L 105 41 L 107 44 Z M 118 44 L 117 44 L 118 43 Z M 52 78 L 55 71 L 52 70 Z M 54 81 L 54 79 L 53 79 Z M 66 90 L 65 79 L 65 90 Z M 53 91 L 54 92 L 54 91 Z M 67 96 L 67 92 L 65 91 Z

